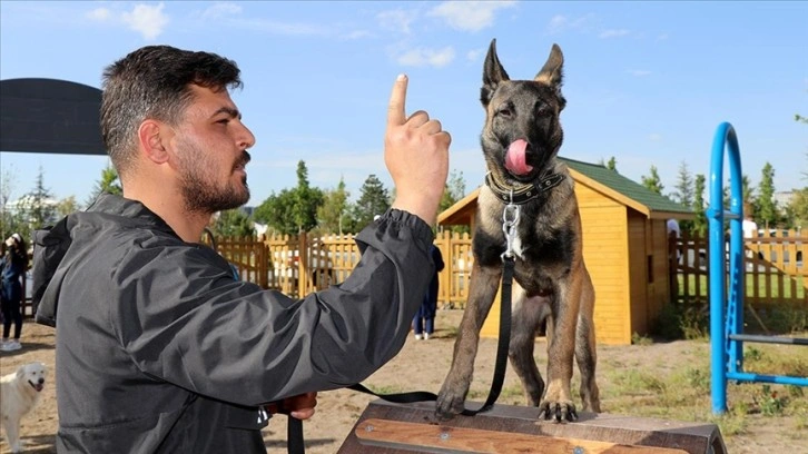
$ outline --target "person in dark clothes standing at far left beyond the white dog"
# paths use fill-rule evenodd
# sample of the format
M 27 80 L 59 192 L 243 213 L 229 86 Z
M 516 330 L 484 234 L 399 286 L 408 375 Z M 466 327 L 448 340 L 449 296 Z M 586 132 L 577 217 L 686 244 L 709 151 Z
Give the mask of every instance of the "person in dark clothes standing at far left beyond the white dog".
M 13 352 L 22 348 L 20 335 L 22 334 L 22 279 L 28 269 L 28 247 L 20 234 L 12 234 L 4 241 L 7 253 L 2 264 L 2 314 L 3 337 L 0 351 Z M 14 337 L 11 334 L 11 324 L 14 325 Z

